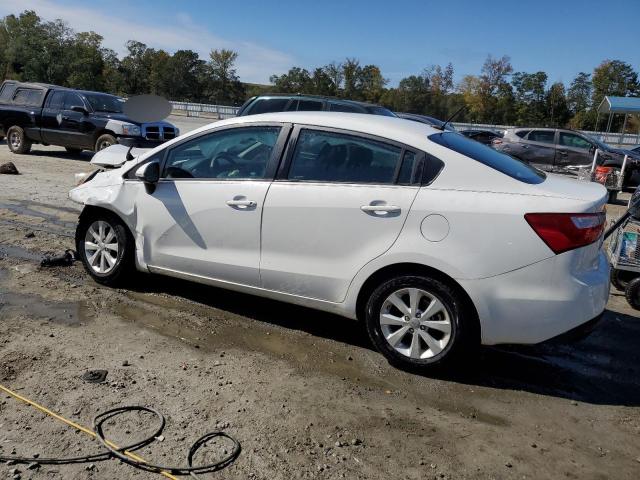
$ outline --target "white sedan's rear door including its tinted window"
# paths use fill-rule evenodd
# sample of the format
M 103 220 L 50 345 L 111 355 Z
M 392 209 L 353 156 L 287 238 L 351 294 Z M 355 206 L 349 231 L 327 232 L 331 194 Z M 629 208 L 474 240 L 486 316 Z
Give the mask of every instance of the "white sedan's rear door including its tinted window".
M 384 139 L 296 127 L 265 200 L 262 286 L 343 301 L 356 272 L 400 234 L 421 161 Z

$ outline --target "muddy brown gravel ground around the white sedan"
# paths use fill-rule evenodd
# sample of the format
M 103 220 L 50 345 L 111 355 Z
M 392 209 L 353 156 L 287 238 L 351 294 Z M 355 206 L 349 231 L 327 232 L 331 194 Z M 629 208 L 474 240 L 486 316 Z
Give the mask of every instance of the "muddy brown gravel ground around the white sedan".
M 42 255 L 73 247 L 79 209 L 67 192 L 89 158 L 0 144 L 0 164 L 22 173 L 0 175 L 0 384 L 86 426 L 115 406 L 160 410 L 164 441 L 140 452 L 157 463 L 185 464 L 196 438 L 223 429 L 243 450 L 211 478 L 640 477 L 640 322 L 619 292 L 579 343 L 483 349 L 457 376 L 409 374 L 342 318 L 150 275 L 114 290 L 79 264 L 40 268 Z M 85 383 L 89 369 L 108 370 L 107 381 Z M 111 428 L 126 444 L 150 426 L 130 416 Z M 0 395 L 0 455 L 97 450 Z M 0 477 L 155 475 L 111 460 L 0 465 Z

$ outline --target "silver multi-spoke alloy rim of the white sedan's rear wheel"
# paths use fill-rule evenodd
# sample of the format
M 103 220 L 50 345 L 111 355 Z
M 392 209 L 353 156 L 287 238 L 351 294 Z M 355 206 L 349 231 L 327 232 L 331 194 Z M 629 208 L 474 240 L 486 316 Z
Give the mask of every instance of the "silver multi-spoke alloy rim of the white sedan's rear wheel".
M 436 295 L 419 288 L 389 295 L 380 310 L 380 327 L 394 350 L 415 360 L 438 355 L 451 340 L 449 309 Z

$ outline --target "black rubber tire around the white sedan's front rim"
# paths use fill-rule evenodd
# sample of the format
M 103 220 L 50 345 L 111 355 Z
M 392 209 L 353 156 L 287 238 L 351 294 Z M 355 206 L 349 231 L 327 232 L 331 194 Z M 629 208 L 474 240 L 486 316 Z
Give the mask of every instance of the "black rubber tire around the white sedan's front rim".
M 87 232 L 91 227 L 97 231 L 96 224 L 98 222 L 106 223 L 115 234 L 117 240 L 117 254 L 113 255 L 112 250 L 109 250 L 110 257 L 113 259 L 115 256 L 115 262 L 109 266 L 108 271 L 97 271 L 90 263 L 92 257 L 92 250 L 90 250 L 86 244 L 86 239 L 89 237 Z M 108 230 L 105 228 L 105 237 L 108 238 Z M 95 238 L 94 238 L 95 241 Z M 109 240 L 109 244 L 113 244 L 113 240 Z M 94 242 L 92 242 L 94 243 Z M 95 242 L 98 244 L 98 242 Z M 107 244 L 108 242 L 104 242 Z M 104 245 L 103 244 L 103 245 Z M 106 251 L 106 249 L 104 249 Z M 78 227 L 76 229 L 76 251 L 78 252 L 78 258 L 82 261 L 87 273 L 98 283 L 108 286 L 123 285 L 127 278 L 130 278 L 130 273 L 135 271 L 135 243 L 129 229 L 120 218 L 106 210 L 100 210 L 92 212 L 81 217 Z M 105 257 L 106 258 L 106 257 Z M 105 265 L 109 262 L 105 260 Z M 100 265 L 97 266 L 99 268 Z

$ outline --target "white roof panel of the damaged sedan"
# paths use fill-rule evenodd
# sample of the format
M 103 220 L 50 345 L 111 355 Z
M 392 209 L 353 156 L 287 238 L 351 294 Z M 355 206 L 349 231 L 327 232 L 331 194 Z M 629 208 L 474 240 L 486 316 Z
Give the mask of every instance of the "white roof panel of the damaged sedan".
M 442 133 L 426 123 L 414 122 L 398 117 L 366 115 L 343 112 L 275 112 L 246 115 L 221 120 L 199 129 L 205 131 L 226 125 L 257 122 L 297 123 L 317 127 L 339 128 L 375 135 L 389 140 L 422 148 L 429 135 Z

